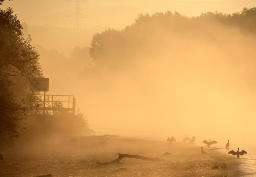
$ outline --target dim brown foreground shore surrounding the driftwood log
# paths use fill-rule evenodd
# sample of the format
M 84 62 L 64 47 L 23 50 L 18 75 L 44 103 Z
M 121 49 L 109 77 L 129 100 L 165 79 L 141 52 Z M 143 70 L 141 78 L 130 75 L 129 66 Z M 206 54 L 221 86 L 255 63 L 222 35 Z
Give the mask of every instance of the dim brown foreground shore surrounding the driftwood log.
M 214 155 L 214 151 L 202 154 L 200 147 L 188 143 L 54 135 L 34 142 L 20 141 L 15 146 L 1 146 L 0 151 L 3 155 L 3 160 L 0 161 L 1 177 L 36 177 L 47 174 L 52 174 L 53 177 L 228 176 L 227 164 Z M 164 161 L 122 158 L 118 164 L 96 164 L 116 159 L 117 153 Z M 216 166 L 219 169 L 213 170 L 212 167 Z

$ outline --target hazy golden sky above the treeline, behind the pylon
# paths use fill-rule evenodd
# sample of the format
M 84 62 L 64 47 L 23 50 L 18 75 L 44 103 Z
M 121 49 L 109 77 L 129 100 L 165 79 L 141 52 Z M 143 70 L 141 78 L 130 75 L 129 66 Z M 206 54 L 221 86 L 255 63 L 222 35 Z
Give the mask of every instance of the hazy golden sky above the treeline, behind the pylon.
M 86 1 L 86 0 L 80 0 Z M 5 0 L 1 8 L 14 9 L 18 19 L 29 25 L 34 43 L 45 48 L 72 52 L 75 45 L 89 46 L 92 35 L 105 29 L 124 29 L 135 22 L 139 14 L 178 11 L 185 16 L 198 16 L 202 12 L 218 11 L 223 13 L 240 12 L 243 7 L 253 7 L 255 0 L 90 0 L 80 2 L 80 29 L 78 37 L 75 27 L 73 0 Z M 69 16 L 69 17 L 66 17 Z M 71 31 L 71 32 L 70 32 Z M 55 39 L 54 39 L 55 38 Z M 62 40 L 61 40 L 62 39 Z M 66 41 L 69 44 L 64 45 Z M 76 41 L 75 41 L 76 40 Z M 59 41 L 59 42 L 56 42 Z M 65 48 L 65 46 L 69 46 Z

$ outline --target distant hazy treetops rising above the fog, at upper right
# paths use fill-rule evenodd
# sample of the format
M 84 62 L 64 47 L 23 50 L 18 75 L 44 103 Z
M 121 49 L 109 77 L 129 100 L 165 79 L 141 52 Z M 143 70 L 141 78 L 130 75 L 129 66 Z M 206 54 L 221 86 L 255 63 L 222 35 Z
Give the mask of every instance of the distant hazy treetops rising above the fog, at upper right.
M 183 39 L 214 40 L 223 28 L 256 35 L 256 7 L 243 8 L 233 14 L 207 12 L 191 18 L 170 11 L 140 14 L 134 24 L 123 30 L 107 29 L 96 33 L 90 55 L 95 61 L 109 58 L 107 63 L 116 65 L 140 54 L 155 54 L 159 52 L 158 47 L 171 47 Z

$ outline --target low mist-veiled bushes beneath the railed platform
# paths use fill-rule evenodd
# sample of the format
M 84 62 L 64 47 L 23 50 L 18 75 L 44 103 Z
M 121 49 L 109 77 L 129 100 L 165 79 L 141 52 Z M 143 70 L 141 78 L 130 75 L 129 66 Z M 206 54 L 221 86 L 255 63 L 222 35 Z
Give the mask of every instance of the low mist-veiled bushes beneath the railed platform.
M 35 114 L 26 121 L 26 129 L 22 131 L 22 138 L 33 139 L 49 134 L 92 134 L 87 117 L 79 110 L 76 115 L 65 112 L 61 115 Z

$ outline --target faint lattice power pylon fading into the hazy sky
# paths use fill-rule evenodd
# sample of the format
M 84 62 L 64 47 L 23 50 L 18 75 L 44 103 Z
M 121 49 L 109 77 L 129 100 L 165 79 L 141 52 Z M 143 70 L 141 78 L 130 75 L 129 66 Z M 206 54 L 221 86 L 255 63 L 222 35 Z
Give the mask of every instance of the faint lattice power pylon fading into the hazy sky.
M 86 5 L 86 7 L 88 8 L 90 6 L 91 2 L 89 0 L 65 0 L 65 1 L 66 1 L 66 4 L 68 6 L 71 2 L 75 2 L 74 13 L 63 15 L 62 18 L 63 18 L 64 22 L 67 19 L 69 20 L 70 23 L 72 21 L 74 21 L 74 23 L 73 23 L 74 28 L 70 32 L 76 33 L 76 40 L 78 40 L 80 38 L 79 35 L 82 33 L 82 31 L 81 31 L 81 20 L 82 20 L 82 22 L 89 21 L 90 23 L 92 21 L 92 17 L 90 17 L 88 15 L 85 15 L 85 14 L 80 12 L 81 11 L 81 9 L 80 9 L 81 3 L 84 3 Z

